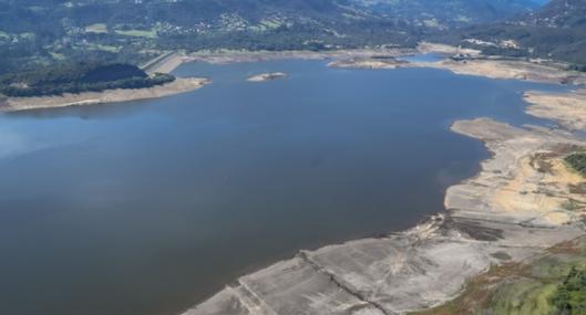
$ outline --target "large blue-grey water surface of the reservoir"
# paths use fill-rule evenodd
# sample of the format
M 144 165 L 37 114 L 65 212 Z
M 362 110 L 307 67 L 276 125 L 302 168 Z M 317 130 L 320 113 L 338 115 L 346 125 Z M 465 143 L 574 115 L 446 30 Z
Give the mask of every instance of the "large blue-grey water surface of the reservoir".
M 0 314 L 171 315 L 300 249 L 407 229 L 489 157 L 461 118 L 544 124 L 558 86 L 327 61 L 184 64 L 160 99 L 0 115 Z M 285 72 L 285 78 L 246 82 Z

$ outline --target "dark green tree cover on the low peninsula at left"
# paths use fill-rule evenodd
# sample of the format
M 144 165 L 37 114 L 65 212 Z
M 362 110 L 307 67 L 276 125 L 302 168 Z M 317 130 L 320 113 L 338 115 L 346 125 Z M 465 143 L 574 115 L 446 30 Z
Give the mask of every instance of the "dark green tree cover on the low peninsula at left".
M 63 93 L 101 92 L 111 88 L 141 88 L 174 81 L 169 74 L 148 76 L 128 64 L 73 63 L 0 76 L 6 96 L 44 96 Z

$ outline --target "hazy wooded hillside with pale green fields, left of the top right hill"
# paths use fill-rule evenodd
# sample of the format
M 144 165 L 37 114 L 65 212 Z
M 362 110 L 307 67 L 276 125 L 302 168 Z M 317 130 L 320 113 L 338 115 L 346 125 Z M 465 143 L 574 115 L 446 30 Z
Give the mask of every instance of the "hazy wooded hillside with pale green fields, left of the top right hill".
M 413 45 L 502 20 L 532 0 L 0 0 L 0 73 L 71 60 L 133 62 L 162 50 Z

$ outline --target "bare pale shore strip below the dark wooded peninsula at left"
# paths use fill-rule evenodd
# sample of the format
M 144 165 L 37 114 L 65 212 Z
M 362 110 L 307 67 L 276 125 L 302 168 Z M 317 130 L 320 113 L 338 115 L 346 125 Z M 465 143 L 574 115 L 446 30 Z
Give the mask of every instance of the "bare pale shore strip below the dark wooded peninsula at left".
M 0 106 L 0 112 L 17 112 L 39 108 L 56 108 L 65 106 L 84 106 L 106 103 L 119 103 L 138 99 L 164 97 L 191 92 L 209 83 L 206 78 L 183 78 L 147 88 L 110 90 L 104 92 L 86 92 L 63 94 L 61 96 L 10 97 Z

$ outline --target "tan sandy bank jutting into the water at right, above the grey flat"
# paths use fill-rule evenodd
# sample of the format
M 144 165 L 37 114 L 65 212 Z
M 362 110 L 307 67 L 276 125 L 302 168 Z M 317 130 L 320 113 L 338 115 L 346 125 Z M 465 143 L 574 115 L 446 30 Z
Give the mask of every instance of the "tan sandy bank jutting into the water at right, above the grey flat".
M 546 227 L 580 220 L 579 202 L 586 199 L 572 186 L 585 179 L 566 169 L 562 160 L 568 147 L 586 143 L 565 132 L 521 129 L 486 119 L 456 122 L 452 129 L 483 139 L 495 156 L 482 164 L 479 176 L 449 188 L 448 209 Z M 476 199 L 481 202 L 471 202 Z M 570 200 L 576 209 L 566 206 Z

